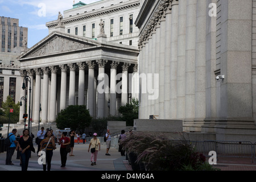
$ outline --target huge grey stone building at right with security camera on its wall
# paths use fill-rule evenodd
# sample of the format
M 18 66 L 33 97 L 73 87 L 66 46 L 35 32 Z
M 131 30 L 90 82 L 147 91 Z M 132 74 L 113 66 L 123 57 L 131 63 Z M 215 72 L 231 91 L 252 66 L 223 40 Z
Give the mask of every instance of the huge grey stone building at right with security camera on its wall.
M 141 1 L 139 73 L 159 74 L 159 98 L 140 94 L 139 118 L 256 142 L 255 10 L 251 0 Z

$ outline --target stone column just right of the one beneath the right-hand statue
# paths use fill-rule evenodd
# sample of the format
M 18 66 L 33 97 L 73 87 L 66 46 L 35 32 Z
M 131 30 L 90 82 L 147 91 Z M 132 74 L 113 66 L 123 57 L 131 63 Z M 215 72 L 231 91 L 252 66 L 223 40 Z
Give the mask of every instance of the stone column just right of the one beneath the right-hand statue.
M 113 61 L 110 69 L 110 115 L 117 115 L 117 90 L 115 88 L 117 84 L 117 66 L 119 62 Z

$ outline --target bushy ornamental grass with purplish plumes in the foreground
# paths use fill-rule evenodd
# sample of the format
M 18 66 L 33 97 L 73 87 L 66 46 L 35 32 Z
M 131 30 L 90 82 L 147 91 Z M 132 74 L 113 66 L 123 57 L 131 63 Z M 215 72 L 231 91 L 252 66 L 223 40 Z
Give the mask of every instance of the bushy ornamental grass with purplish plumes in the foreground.
M 151 171 L 216 170 L 184 138 L 170 140 L 163 134 L 135 132 L 121 143 L 127 153 L 136 158 L 131 159 L 132 167 L 135 164 L 144 164 L 145 169 Z M 133 170 L 139 168 L 134 167 Z

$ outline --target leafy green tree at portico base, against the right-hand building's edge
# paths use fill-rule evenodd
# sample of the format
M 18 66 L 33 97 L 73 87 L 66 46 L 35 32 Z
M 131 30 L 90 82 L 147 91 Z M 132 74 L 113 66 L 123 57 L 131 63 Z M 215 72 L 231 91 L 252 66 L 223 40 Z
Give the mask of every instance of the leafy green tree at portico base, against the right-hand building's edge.
M 139 101 L 133 98 L 130 103 L 125 106 L 120 106 L 118 109 L 122 114 L 122 121 L 126 121 L 127 126 L 133 126 L 133 120 L 139 118 Z

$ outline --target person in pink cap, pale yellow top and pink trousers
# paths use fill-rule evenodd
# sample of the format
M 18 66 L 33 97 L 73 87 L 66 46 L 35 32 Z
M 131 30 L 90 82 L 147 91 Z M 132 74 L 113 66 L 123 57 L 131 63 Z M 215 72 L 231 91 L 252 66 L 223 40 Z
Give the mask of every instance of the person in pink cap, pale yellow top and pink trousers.
M 92 154 L 90 155 L 90 161 L 92 162 L 90 165 L 93 166 L 93 165 L 96 165 L 98 151 L 101 150 L 101 142 L 97 138 L 97 133 L 94 133 L 93 134 L 93 138 L 90 139 L 90 144 L 89 144 L 88 152 L 89 152 L 91 146 L 92 146 L 92 149 L 95 148 L 93 151 L 91 149 L 91 153 Z

